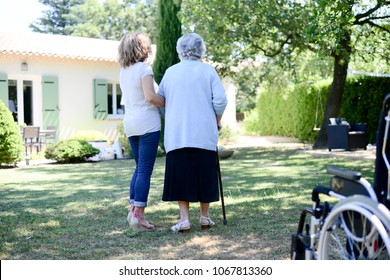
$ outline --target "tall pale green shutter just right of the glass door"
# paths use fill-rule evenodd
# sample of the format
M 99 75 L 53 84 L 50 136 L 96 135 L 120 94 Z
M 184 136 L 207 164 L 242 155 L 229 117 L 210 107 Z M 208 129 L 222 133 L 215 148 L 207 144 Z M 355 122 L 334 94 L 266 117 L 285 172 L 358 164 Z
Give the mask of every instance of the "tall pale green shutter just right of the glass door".
M 42 77 L 43 127 L 59 127 L 58 77 Z

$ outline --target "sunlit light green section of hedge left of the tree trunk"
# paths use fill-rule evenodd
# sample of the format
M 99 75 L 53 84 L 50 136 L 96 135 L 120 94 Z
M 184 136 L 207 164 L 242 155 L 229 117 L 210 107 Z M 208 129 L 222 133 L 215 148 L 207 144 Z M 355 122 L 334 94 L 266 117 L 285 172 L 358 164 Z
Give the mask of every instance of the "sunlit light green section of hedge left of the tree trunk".
M 279 135 L 295 137 L 301 141 L 314 141 L 318 133 L 314 127 L 321 125 L 323 117 L 320 108 L 316 112 L 318 94 L 321 94 L 325 110 L 329 86 L 330 82 L 323 80 L 315 84 L 297 84 L 285 89 L 264 88 L 258 97 L 256 108 L 244 120 L 245 129 L 259 135 Z

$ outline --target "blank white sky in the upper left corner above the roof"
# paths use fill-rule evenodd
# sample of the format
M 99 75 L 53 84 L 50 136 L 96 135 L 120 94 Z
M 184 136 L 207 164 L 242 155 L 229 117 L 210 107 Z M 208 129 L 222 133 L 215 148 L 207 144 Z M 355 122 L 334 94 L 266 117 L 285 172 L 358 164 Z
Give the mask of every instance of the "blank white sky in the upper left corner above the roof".
M 0 0 L 0 32 L 31 32 L 28 26 L 46 9 L 38 0 Z

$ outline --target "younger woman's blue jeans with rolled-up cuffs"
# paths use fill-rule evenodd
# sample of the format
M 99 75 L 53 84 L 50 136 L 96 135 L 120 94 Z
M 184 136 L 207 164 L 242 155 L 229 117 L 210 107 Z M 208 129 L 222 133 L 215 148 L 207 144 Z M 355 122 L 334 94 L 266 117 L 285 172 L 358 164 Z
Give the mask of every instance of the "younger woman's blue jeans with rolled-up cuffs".
M 130 181 L 130 203 L 146 207 L 150 189 L 150 179 L 156 161 L 160 131 L 129 137 L 136 168 Z

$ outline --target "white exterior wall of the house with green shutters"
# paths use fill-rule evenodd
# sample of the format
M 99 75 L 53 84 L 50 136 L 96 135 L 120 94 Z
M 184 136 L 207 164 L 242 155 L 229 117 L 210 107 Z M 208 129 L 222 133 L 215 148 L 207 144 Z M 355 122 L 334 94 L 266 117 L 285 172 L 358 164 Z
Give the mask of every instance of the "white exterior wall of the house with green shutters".
M 21 71 L 20 64 L 23 61 L 28 64 L 28 71 Z M 18 80 L 18 101 L 23 99 L 22 81 L 33 81 L 34 125 L 42 125 L 42 76 L 57 76 L 59 139 L 69 138 L 79 130 L 99 130 L 110 139 L 115 139 L 117 124 L 122 120 L 94 119 L 93 80 L 106 79 L 119 83 L 117 63 L 0 56 L 0 73 L 7 74 L 8 79 Z M 22 113 L 20 110 L 19 116 Z

